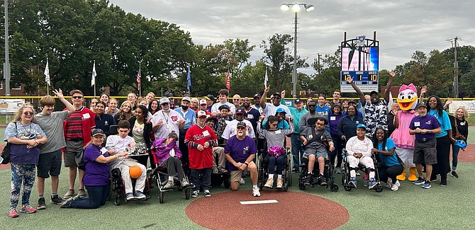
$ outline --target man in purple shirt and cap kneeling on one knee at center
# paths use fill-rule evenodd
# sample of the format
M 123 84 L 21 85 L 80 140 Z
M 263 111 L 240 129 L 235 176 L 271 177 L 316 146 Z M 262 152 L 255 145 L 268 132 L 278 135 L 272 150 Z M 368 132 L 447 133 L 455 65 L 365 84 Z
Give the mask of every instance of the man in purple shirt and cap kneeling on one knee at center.
M 252 180 L 252 195 L 260 197 L 261 193 L 257 187 L 257 167 L 252 161 L 257 154 L 257 147 L 254 139 L 246 136 L 247 125 L 245 122 L 238 122 L 236 127 L 236 135 L 230 137 L 224 152 L 228 160 L 228 170 L 230 171 L 231 190 L 235 191 L 239 188 L 239 181 L 242 171 L 248 171 Z

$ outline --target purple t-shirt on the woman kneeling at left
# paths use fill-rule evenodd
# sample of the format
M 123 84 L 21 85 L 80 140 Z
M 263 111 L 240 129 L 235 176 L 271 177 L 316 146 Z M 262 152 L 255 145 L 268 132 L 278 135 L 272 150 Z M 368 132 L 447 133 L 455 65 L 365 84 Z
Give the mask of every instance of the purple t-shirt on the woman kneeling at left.
M 86 173 L 83 182 L 86 186 L 107 185 L 109 181 L 109 164 L 94 161 L 102 155 L 99 151 L 101 147 L 89 144 L 84 150 L 83 160 L 86 163 Z M 105 154 L 105 156 L 108 156 L 108 154 Z

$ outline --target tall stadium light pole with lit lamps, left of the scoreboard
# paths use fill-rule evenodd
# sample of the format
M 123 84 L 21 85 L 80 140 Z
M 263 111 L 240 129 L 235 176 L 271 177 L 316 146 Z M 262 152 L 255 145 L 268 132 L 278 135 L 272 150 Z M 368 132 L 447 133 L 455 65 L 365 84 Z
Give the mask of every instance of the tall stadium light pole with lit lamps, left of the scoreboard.
M 297 96 L 297 14 L 301 10 L 301 6 L 305 8 L 305 11 L 308 13 L 310 11 L 313 11 L 315 7 L 313 5 L 309 4 L 281 4 L 280 9 L 284 12 L 289 11 L 291 9 L 291 12 L 294 13 L 294 71 L 292 73 L 292 83 L 294 84 L 294 87 L 292 89 L 292 96 L 294 98 Z

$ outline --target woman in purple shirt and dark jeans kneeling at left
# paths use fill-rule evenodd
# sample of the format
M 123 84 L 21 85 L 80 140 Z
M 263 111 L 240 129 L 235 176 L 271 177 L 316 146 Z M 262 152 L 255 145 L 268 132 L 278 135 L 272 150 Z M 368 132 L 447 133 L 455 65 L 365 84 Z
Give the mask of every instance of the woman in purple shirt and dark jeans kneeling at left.
M 96 209 L 105 205 L 108 197 L 109 162 L 118 159 L 120 156 L 127 156 L 127 151 L 121 154 L 109 156 L 102 144 L 106 134 L 101 129 L 92 132 L 92 143 L 84 149 L 82 157 L 86 164 L 86 173 L 83 183 L 86 186 L 89 197 L 71 197 L 61 204 L 61 207 L 74 207 L 77 209 Z

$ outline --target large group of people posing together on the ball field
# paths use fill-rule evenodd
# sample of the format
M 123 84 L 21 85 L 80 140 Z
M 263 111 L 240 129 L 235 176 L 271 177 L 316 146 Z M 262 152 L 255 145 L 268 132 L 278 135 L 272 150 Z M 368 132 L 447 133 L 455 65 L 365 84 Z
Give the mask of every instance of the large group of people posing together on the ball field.
M 213 173 L 230 173 L 230 189 L 238 190 L 243 173 L 247 172 L 252 180 L 252 195 L 259 197 L 257 151 L 265 148 L 269 162 L 265 169 L 269 178 L 264 179 L 264 186 L 274 188 L 275 181 L 275 188 L 282 188 L 286 137 L 290 137 L 291 142 L 292 171 L 300 170 L 303 157 L 308 159 L 307 184 L 316 178 L 320 185 L 326 185 L 323 168 L 328 158 L 335 165 L 335 172 L 341 173 L 342 152 L 346 149 L 350 183 L 354 187 L 360 164 L 368 169 L 369 188 L 379 183 L 375 180 L 375 171 L 378 171 L 386 188 L 398 190 L 400 176 L 404 168 L 412 167 L 411 164 L 418 172 L 415 185 L 430 188 L 430 181 L 437 180 L 436 175 L 440 175 L 440 185 L 445 186 L 450 171 L 450 146 L 452 176 L 458 178 L 460 148 L 454 142 L 468 136 L 468 113 L 459 108 L 450 119 L 436 96 L 430 96 L 425 104 L 420 100 L 421 103 L 408 111 L 392 106 L 388 113 L 394 76 L 391 72 L 382 100 L 376 91 L 365 96 L 352 79 L 347 79 L 358 93 L 359 101 L 340 99 L 340 91 L 335 90 L 333 100 L 327 101 L 323 95 L 316 101 L 307 98 L 304 102 L 297 98 L 291 107 L 284 101 L 285 91 L 273 93 L 268 103 L 269 87 L 264 88 L 262 96 L 256 94 L 253 98 L 241 98 L 236 94 L 233 103 L 228 102 L 228 90 L 222 89 L 216 101 L 211 94 L 201 100 L 184 97 L 178 106 L 174 105 L 172 97 L 158 99 L 154 93 L 147 93 L 145 98 L 138 98 L 135 93 L 129 93 L 128 99 L 118 107 L 118 100 L 103 93 L 91 100 L 90 109 L 84 106 L 82 91 L 69 92 L 72 103 L 65 99 L 61 90 L 54 91 L 65 104 L 65 110 L 53 112 L 55 98 L 44 96 L 40 99 L 41 113 L 35 114 L 33 107 L 23 105 L 6 127 L 4 139 L 11 144 L 12 170 L 9 216 L 18 217 L 22 183 L 20 212 L 45 209 L 45 179 L 49 177 L 52 203 L 61 207 L 100 207 L 106 202 L 110 168 L 121 171 L 127 200 L 145 198 L 149 166 L 167 168 L 169 177 L 164 188 L 173 188 L 175 176 L 184 187 L 194 185 L 191 197 L 198 197 L 200 191 L 205 197 L 211 197 Z M 406 112 L 412 116 L 408 121 L 401 117 Z M 309 123 L 311 118 L 315 118 L 315 123 Z M 110 133 L 111 125 L 117 125 L 117 130 L 112 130 L 117 134 Z M 401 138 L 394 141 L 391 138 L 398 130 L 406 130 L 401 132 L 413 137 L 412 142 L 410 138 L 405 139 L 403 146 L 412 148 L 412 162 L 398 156 Z M 129 156 L 128 149 L 140 144 L 152 151 Z M 63 152 L 69 190 L 60 197 L 57 188 Z M 380 168 L 375 167 L 373 155 L 381 162 Z M 82 156 L 82 166 L 79 166 L 77 156 Z M 319 175 L 314 176 L 315 166 Z M 141 171 L 135 186 L 129 174 L 132 167 Z M 35 174 L 39 195 L 36 209 L 29 202 Z M 79 190 L 76 192 L 78 174 Z M 89 195 L 87 198 L 84 188 Z

